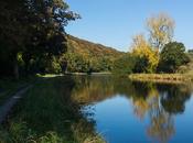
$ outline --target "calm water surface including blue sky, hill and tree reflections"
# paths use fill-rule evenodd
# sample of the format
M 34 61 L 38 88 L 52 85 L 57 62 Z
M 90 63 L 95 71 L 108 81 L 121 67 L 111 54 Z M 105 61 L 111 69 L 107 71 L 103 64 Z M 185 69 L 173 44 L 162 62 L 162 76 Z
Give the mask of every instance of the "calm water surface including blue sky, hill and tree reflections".
M 193 143 L 192 85 L 75 77 L 75 100 L 109 143 Z

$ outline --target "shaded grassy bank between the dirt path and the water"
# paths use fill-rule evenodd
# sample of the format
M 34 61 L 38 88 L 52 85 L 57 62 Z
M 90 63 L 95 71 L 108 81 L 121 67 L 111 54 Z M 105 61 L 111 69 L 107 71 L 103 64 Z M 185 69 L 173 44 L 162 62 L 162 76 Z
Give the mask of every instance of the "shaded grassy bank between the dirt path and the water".
M 1 143 L 101 143 L 71 97 L 71 77 L 43 78 L 0 127 Z

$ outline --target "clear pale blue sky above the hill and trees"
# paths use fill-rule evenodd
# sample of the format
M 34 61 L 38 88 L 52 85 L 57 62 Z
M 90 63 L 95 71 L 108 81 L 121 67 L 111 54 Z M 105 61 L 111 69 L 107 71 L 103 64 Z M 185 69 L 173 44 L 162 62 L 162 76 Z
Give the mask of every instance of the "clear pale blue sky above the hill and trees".
M 69 22 L 74 36 L 128 52 L 132 36 L 147 35 L 146 20 L 168 13 L 175 21 L 174 41 L 193 48 L 193 0 L 66 0 L 82 19 Z

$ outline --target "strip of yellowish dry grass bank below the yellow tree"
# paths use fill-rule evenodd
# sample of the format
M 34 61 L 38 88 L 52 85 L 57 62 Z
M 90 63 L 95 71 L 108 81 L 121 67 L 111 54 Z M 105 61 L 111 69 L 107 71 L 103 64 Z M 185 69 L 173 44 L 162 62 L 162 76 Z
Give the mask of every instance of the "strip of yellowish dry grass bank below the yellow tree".
M 131 80 L 184 84 L 193 81 L 192 74 L 131 74 Z

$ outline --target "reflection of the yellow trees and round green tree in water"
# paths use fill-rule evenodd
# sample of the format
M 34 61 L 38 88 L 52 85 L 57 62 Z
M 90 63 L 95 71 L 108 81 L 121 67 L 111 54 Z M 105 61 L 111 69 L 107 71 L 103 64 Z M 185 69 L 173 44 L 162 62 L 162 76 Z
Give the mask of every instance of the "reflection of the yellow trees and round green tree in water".
M 152 140 L 168 142 L 175 133 L 173 116 L 184 111 L 185 101 L 190 99 L 192 88 L 186 85 L 132 84 L 138 85 L 136 88 L 138 92 L 142 91 L 138 97 L 132 92 L 135 114 L 140 120 L 148 114 L 150 119 L 147 128 L 148 135 Z

